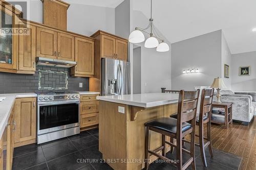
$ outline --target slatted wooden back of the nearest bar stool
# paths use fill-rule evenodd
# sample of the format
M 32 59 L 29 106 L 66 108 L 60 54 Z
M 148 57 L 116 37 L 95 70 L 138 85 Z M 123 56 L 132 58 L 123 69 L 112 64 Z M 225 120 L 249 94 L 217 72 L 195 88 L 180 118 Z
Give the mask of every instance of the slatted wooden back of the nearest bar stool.
M 188 122 L 189 120 L 196 121 L 199 92 L 199 89 L 196 91 L 180 91 L 177 128 L 179 127 L 178 125 L 180 125 L 180 128 L 182 128 L 183 122 Z

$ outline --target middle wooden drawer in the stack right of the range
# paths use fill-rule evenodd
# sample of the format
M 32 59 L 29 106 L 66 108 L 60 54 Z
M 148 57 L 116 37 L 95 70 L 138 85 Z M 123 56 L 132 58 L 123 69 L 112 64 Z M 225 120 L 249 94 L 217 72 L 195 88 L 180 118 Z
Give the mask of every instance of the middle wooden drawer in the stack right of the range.
M 99 112 L 98 106 L 99 106 L 98 101 L 81 102 L 80 103 L 80 115 Z

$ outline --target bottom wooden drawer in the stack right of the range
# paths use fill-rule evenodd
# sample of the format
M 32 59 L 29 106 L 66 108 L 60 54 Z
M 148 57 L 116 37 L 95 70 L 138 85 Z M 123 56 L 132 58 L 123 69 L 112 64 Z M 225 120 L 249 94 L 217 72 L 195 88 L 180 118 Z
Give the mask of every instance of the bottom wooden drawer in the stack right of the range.
M 80 128 L 98 125 L 99 124 L 99 113 L 90 113 L 80 115 Z

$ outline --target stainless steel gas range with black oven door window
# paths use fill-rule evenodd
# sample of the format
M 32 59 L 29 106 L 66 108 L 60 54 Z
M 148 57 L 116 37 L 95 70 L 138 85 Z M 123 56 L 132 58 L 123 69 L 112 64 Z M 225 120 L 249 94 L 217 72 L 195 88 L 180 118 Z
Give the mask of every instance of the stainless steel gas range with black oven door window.
M 37 144 L 80 133 L 77 92 L 37 94 Z

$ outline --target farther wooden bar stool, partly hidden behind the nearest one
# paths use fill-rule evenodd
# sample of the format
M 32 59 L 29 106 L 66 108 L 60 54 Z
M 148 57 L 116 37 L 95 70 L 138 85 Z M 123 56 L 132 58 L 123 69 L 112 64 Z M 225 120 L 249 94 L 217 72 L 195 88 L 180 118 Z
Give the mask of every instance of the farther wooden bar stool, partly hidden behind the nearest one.
M 199 135 L 195 135 L 199 137 L 199 144 L 195 143 L 200 147 L 202 162 L 205 167 L 207 167 L 206 157 L 205 157 L 205 148 L 208 147 L 210 156 L 213 157 L 212 146 L 211 146 L 211 134 L 210 134 L 210 120 L 211 120 L 211 109 L 212 109 L 212 98 L 214 95 L 214 89 L 203 89 L 201 94 L 201 102 L 200 102 L 200 113 L 196 119 L 196 125 L 199 126 Z M 207 114 L 207 115 L 206 115 Z M 170 115 L 170 117 L 178 118 L 177 114 Z M 207 124 L 207 137 L 204 137 L 204 124 Z M 204 139 L 206 143 L 204 143 Z M 173 139 L 171 139 L 173 140 Z M 182 139 L 183 142 L 190 143 L 190 141 Z M 171 147 L 171 152 L 173 152 L 173 147 Z

